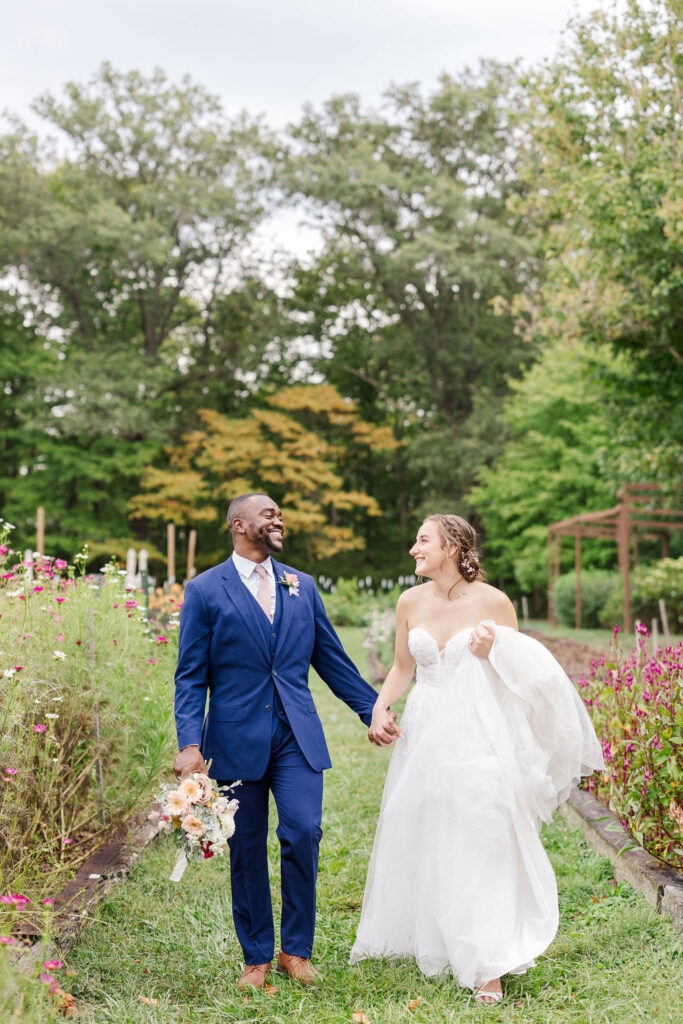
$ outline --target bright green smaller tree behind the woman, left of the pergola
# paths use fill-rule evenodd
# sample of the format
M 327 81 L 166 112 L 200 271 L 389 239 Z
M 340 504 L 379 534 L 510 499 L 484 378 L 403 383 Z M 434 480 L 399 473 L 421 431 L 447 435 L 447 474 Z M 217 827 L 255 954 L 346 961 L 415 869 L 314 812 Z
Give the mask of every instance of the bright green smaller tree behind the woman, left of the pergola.
M 541 591 L 550 523 L 615 503 L 604 464 L 615 446 L 620 414 L 605 399 L 603 383 L 614 362 L 608 350 L 561 340 L 511 385 L 503 412 L 507 442 L 468 496 L 482 523 L 494 581 Z M 628 376 L 628 359 L 616 364 Z M 583 556 L 586 568 L 612 566 L 616 549 L 587 541 Z

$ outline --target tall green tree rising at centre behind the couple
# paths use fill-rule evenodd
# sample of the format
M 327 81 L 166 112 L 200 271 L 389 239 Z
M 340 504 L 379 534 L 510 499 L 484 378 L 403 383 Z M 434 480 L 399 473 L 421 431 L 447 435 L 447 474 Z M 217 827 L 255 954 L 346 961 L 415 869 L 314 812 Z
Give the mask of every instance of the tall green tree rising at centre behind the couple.
M 408 541 L 416 508 L 457 501 L 497 451 L 496 410 L 532 355 L 499 315 L 537 273 L 508 200 L 519 189 L 513 69 L 308 110 L 281 175 L 316 211 L 326 246 L 294 273 L 299 335 L 365 416 L 391 425 L 391 504 Z M 387 495 L 387 500 L 389 496 Z

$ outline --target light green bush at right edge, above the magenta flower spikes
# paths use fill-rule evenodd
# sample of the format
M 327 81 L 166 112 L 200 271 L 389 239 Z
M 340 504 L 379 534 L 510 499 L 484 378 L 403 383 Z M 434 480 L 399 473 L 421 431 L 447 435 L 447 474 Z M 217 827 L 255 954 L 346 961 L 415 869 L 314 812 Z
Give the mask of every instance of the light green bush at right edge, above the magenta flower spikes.
M 631 573 L 631 614 L 649 625 L 659 618 L 659 598 L 667 605 L 669 627 L 683 633 L 683 558 L 663 558 L 638 565 Z M 624 622 L 624 584 L 618 577 L 601 615 L 603 626 Z

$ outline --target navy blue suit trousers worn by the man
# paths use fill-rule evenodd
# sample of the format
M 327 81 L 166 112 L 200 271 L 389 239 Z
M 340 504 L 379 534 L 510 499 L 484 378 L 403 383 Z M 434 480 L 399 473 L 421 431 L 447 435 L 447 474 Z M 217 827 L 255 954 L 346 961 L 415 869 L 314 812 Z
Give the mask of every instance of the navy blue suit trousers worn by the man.
M 323 772 L 313 771 L 301 753 L 276 692 L 268 767 L 261 778 L 243 782 L 234 792 L 240 808 L 229 842 L 232 919 L 245 964 L 267 964 L 274 952 L 267 855 L 270 792 L 281 848 L 281 948 L 308 958 L 315 931 Z

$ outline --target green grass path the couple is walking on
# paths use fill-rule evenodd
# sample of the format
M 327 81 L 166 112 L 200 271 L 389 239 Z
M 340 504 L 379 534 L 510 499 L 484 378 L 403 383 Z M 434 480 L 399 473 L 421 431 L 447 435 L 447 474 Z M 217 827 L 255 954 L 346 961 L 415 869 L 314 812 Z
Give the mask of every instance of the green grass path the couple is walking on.
M 360 631 L 344 630 L 362 664 Z M 408 962 L 347 964 L 388 762 L 352 713 L 319 681 L 312 684 L 335 768 L 326 774 L 314 961 L 325 982 L 302 989 L 274 976 L 278 991 L 236 987 L 242 957 L 230 916 L 227 859 L 190 865 L 168 882 L 174 849 L 150 848 L 130 879 L 100 904 L 68 956 L 80 1021 L 96 1024 L 345 1024 L 354 1012 L 371 1024 L 478 1021 L 539 1024 L 680 1024 L 683 948 L 672 926 L 641 897 L 615 886 L 595 857 L 557 819 L 545 840 L 560 888 L 559 934 L 536 969 L 506 979 L 506 999 L 482 1009 L 450 977 L 426 979 Z M 275 815 L 270 858 L 278 881 Z M 407 808 L 407 827 L 411 827 Z M 273 886 L 275 911 L 279 893 Z M 157 999 L 159 1006 L 140 1001 Z M 410 1010 L 412 1000 L 421 1001 Z

